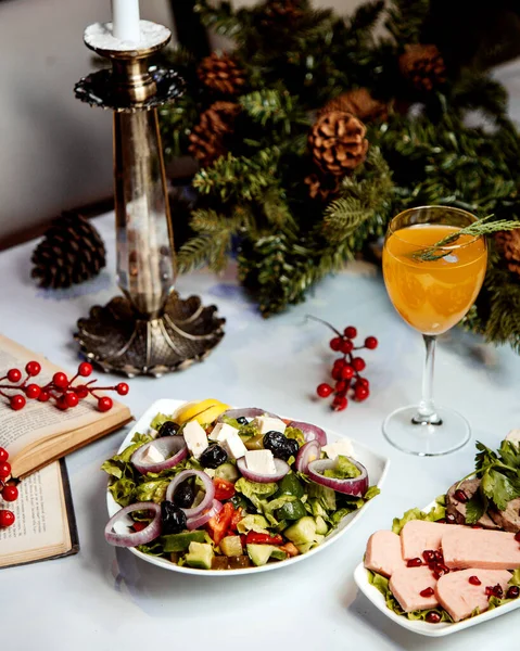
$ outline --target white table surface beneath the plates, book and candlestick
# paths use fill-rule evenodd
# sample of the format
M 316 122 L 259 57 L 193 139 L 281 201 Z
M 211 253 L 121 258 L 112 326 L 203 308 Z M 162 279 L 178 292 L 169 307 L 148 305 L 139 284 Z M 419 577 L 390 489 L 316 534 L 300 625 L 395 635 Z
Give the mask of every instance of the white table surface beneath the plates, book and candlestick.
M 515 73 L 515 74 L 513 74 Z M 520 97 L 516 71 L 500 75 Z M 520 107 L 517 104 L 515 107 Z M 513 112 L 515 113 L 515 112 Z M 520 114 L 520 111 L 517 111 Z M 0 331 L 73 370 L 76 320 L 117 293 L 113 216 L 96 221 L 107 245 L 109 267 L 78 288 L 47 292 L 29 278 L 25 244 L 0 255 Z M 238 286 L 232 268 L 221 278 L 205 272 L 178 281 L 182 296 L 200 294 L 226 317 L 226 336 L 203 363 L 155 380 L 130 381 L 127 403 L 138 417 L 157 398 L 217 397 L 262 406 L 316 422 L 363 441 L 392 460 L 383 493 L 342 541 L 306 562 L 257 576 L 193 577 L 165 572 L 127 550 L 109 546 L 106 476 L 99 468 L 115 452 L 126 430 L 67 458 L 81 550 L 79 554 L 0 572 L 0 648 L 13 651 L 113 651 L 122 649 L 307 650 L 511 649 L 520 614 L 475 626 L 444 639 L 408 633 L 382 617 L 352 578 L 368 536 L 392 518 L 428 503 L 473 468 L 474 439 L 490 446 L 520 426 L 520 360 L 460 331 L 439 345 L 435 394 L 471 422 L 473 438 L 462 450 L 420 459 L 393 449 L 381 422 L 394 408 L 419 398 L 421 337 L 391 306 L 381 277 L 356 267 L 321 282 L 307 303 L 262 319 Z M 346 411 L 330 411 L 315 398 L 333 354 L 328 330 L 305 322 L 312 314 L 339 328 L 357 327 L 380 341 L 366 352 L 371 396 Z

